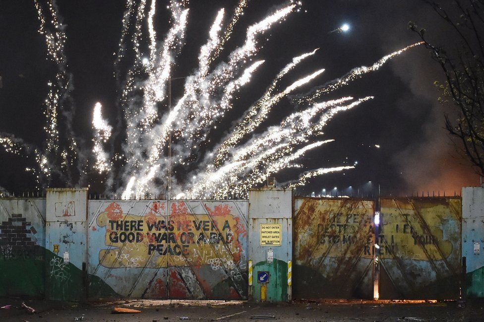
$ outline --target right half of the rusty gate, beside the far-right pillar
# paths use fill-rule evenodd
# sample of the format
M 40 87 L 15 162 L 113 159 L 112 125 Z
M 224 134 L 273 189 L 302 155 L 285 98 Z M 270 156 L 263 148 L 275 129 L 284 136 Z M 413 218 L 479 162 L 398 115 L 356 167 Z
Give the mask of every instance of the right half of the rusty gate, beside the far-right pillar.
M 380 298 L 458 298 L 461 198 L 404 197 L 380 202 Z

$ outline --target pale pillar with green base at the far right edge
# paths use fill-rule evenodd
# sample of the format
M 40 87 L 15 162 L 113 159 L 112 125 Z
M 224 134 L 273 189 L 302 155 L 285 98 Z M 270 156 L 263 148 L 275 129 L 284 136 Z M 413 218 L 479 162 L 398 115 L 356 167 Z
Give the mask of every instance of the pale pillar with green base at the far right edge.
M 484 297 L 484 188 L 462 188 L 462 257 L 468 297 Z

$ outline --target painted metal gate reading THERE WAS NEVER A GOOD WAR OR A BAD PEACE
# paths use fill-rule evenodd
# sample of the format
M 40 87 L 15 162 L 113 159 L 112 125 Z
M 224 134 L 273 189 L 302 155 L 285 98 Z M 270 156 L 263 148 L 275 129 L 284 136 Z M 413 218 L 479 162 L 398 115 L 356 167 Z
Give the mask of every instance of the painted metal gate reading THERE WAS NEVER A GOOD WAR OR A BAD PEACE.
M 90 298 L 245 299 L 247 201 L 90 200 Z

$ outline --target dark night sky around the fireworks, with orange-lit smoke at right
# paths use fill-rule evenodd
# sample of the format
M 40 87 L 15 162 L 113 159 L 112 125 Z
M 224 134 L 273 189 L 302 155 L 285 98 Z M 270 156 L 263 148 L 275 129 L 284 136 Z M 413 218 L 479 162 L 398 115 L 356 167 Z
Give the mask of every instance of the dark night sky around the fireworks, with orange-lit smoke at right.
M 168 29 L 169 12 L 158 0 L 155 19 L 158 38 Z M 452 7 L 451 1 L 441 1 Z M 228 20 L 237 0 L 191 0 L 189 3 L 186 45 L 177 59 L 173 77 L 189 74 L 196 67 L 199 48 L 207 39 L 209 28 L 219 8 L 226 8 Z M 237 47 L 245 37 L 248 25 L 262 19 L 284 1 L 252 0 L 236 25 L 221 58 Z M 75 130 L 79 139 L 91 143 L 92 108 L 101 102 L 112 125 L 118 117 L 119 86 L 114 78 L 113 54 L 118 50 L 121 18 L 125 3 L 121 0 L 58 0 L 60 15 L 67 35 L 68 71 L 73 75 Z M 226 20 L 226 21 L 227 21 Z M 454 35 L 430 7 L 419 0 L 303 0 L 300 12 L 290 14 L 260 39 L 263 46 L 257 59 L 265 59 L 251 82 L 237 94 L 236 108 L 221 123 L 227 130 L 244 109 L 257 100 L 277 72 L 293 57 L 320 48 L 312 57 L 295 68 L 281 87 L 287 86 L 318 68 L 326 71 L 297 93 L 344 75 L 354 67 L 371 65 L 382 56 L 419 41 L 408 29 L 415 21 L 426 28 L 429 40 L 452 46 Z M 348 23 L 347 33 L 330 33 Z M 0 2 L 0 132 L 8 132 L 25 141 L 42 145 L 43 101 L 47 81 L 55 75 L 54 64 L 46 60 L 45 39 L 37 32 L 39 21 L 33 1 Z M 265 40 L 268 39 L 268 40 Z M 340 192 L 349 186 L 361 192 L 406 195 L 419 191 L 459 192 L 462 186 L 479 184 L 479 176 L 460 156 L 444 129 L 444 113 L 453 115 L 452 106 L 437 102 L 439 92 L 433 85 L 442 80 L 438 64 L 423 46 L 394 58 L 380 70 L 364 76 L 331 97 L 352 95 L 375 96 L 374 100 L 336 116 L 324 130 L 324 138 L 335 142 L 307 153 L 304 170 L 325 166 L 353 164 L 356 169 L 311 179 L 300 193 L 319 193 L 323 188 Z M 183 82 L 173 83 L 173 94 L 182 93 Z M 285 99 L 274 109 L 266 125 L 280 120 L 281 115 L 295 111 Z M 225 128 L 224 128 L 225 126 Z M 213 133 L 214 137 L 222 133 Z M 375 147 L 379 145 L 380 148 Z M 25 167 L 33 160 L 0 151 L 0 186 L 7 191 L 32 191 L 35 182 Z M 277 174 L 278 181 L 297 177 L 296 170 Z M 102 186 L 93 177 L 93 191 Z M 372 182 L 372 186 L 368 184 Z

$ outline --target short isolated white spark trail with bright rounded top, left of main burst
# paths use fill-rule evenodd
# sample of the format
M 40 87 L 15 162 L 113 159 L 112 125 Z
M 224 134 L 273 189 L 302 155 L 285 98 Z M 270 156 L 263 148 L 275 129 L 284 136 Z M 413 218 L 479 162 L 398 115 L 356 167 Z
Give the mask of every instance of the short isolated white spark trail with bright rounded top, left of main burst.
M 111 137 L 112 127 L 108 124 L 108 121 L 103 119 L 101 114 L 102 105 L 96 103 L 94 106 L 92 125 L 94 128 L 94 169 L 99 173 L 111 171 L 111 164 L 109 162 L 109 154 L 105 151 L 103 144 Z

